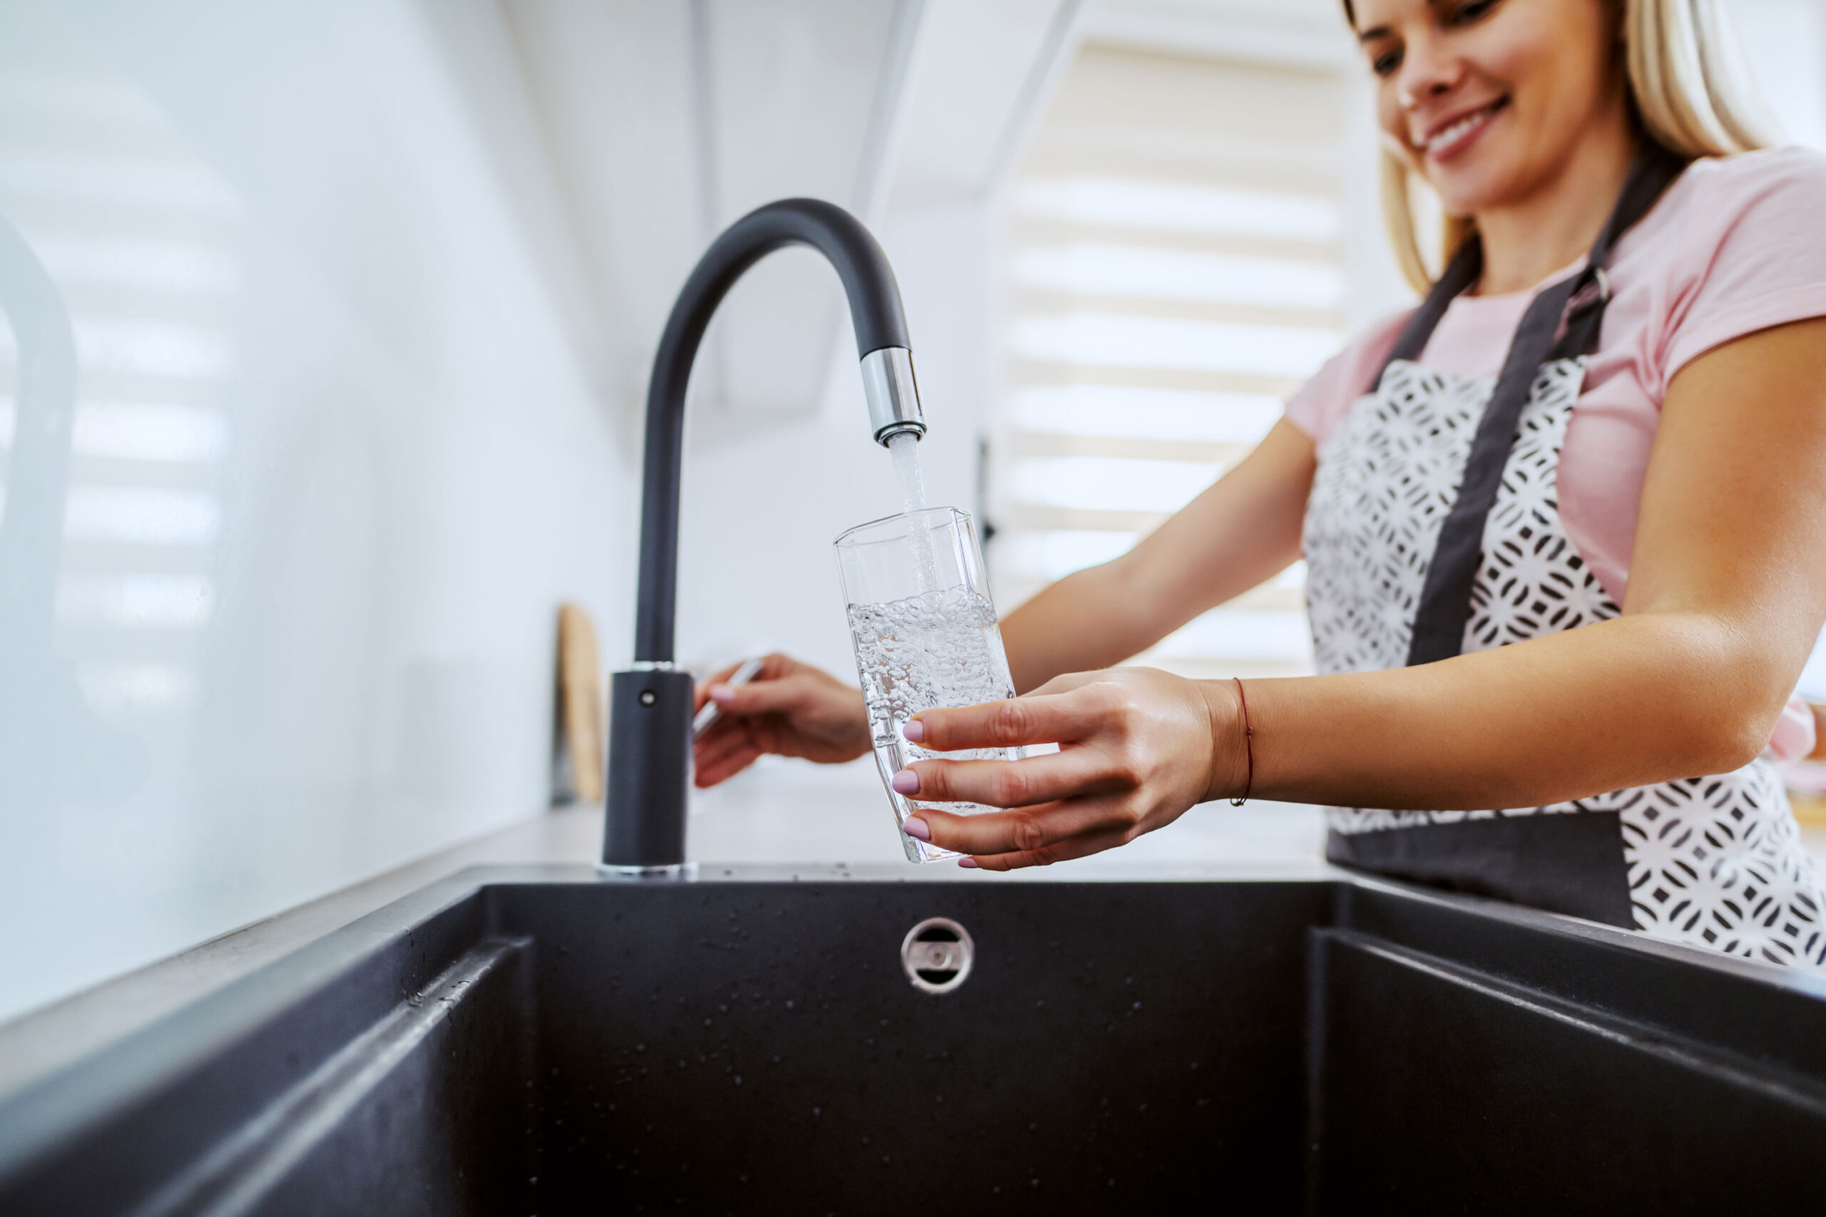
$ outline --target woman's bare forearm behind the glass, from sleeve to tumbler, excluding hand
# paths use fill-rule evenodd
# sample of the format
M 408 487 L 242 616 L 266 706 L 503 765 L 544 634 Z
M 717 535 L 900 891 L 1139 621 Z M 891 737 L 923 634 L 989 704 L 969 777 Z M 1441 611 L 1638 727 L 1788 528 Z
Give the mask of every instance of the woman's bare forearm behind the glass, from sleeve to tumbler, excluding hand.
M 1123 556 L 1066 575 L 1002 619 L 1015 692 L 1112 668 L 1300 556 L 1315 452 L 1280 420 L 1260 445 Z

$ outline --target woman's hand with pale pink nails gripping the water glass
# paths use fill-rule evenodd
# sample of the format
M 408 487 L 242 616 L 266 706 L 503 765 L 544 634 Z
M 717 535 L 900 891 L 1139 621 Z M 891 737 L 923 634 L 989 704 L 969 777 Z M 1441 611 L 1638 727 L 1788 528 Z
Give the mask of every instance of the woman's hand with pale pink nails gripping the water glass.
M 1247 765 L 1234 686 L 1154 668 L 1070 673 L 1012 701 L 926 710 L 906 735 L 935 752 L 1059 744 L 1057 755 L 915 761 L 895 774 L 895 790 L 922 805 L 1008 808 L 955 816 L 922 806 L 908 817 L 913 836 L 988 870 L 1127 845 L 1194 803 L 1240 790 Z

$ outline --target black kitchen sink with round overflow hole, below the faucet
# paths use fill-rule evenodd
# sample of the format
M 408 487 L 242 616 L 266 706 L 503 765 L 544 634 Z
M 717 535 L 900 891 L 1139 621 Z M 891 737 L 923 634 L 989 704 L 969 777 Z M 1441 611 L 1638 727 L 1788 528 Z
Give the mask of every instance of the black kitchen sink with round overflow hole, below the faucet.
M 1368 879 L 900 874 L 467 870 L 15 1095 L 0 1212 L 1826 1195 L 1815 978 Z M 935 916 L 944 993 L 902 965 Z

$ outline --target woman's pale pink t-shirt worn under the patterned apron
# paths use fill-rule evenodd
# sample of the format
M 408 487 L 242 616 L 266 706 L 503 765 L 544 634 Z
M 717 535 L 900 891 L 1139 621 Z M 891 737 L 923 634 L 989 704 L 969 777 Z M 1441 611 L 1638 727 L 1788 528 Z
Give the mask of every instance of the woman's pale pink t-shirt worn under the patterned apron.
M 1618 604 L 1667 381 L 1733 338 L 1826 316 L 1822 221 L 1826 157 L 1775 148 L 1696 161 L 1618 241 L 1611 305 L 1559 454 L 1567 536 Z M 1421 363 L 1494 378 L 1532 297 L 1457 297 Z M 1289 398 L 1287 418 L 1315 443 L 1371 387 L 1408 316 L 1371 325 Z M 1813 717 L 1799 699 L 1769 746 L 1784 761 L 1813 746 Z

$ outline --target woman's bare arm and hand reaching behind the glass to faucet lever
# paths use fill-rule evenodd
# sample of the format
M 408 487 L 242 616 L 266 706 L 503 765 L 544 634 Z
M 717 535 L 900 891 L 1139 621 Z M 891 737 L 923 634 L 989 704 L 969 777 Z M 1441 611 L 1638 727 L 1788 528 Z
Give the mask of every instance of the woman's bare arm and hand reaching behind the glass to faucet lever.
M 1313 467 L 1313 442 L 1282 420 L 1134 549 L 1061 578 L 1010 613 L 1002 642 L 1015 692 L 1119 664 L 1286 569 L 1300 556 Z M 716 699 L 723 708 L 694 746 L 699 786 L 734 777 L 763 752 L 849 761 L 869 750 L 855 686 L 785 655 L 769 655 L 740 688 L 721 684 L 730 671 L 698 688 L 699 706 Z

